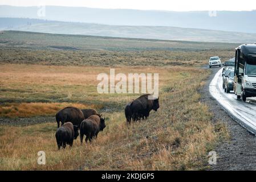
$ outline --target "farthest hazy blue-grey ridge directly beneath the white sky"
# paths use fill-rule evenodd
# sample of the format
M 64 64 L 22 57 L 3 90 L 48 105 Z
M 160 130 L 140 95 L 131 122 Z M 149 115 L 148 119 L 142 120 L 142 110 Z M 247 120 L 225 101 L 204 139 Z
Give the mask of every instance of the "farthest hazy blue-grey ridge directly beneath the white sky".
M 45 16 L 39 7 L 0 6 L 0 17 L 42 18 L 64 22 L 99 23 L 128 26 L 169 26 L 256 33 L 256 11 L 154 11 L 125 9 L 93 9 L 87 7 L 46 6 Z

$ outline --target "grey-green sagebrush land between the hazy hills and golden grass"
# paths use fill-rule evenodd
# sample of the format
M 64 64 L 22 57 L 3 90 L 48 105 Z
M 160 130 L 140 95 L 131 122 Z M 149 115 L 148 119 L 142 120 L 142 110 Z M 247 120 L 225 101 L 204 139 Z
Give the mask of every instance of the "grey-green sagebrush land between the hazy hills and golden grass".
M 239 44 L 124 39 L 5 31 L 1 63 L 91 66 L 172 66 L 207 64 L 210 56 L 234 57 Z

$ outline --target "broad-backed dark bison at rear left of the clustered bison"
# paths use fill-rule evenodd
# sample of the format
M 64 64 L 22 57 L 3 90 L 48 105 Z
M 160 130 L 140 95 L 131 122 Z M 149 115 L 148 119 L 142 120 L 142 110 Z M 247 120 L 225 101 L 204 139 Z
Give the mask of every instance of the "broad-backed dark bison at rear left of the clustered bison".
M 65 107 L 64 109 L 58 111 L 55 115 L 56 122 L 59 128 L 59 122 L 62 122 L 62 125 L 65 122 L 71 122 L 73 125 L 80 127 L 80 123 L 84 120 L 83 112 L 76 107 Z

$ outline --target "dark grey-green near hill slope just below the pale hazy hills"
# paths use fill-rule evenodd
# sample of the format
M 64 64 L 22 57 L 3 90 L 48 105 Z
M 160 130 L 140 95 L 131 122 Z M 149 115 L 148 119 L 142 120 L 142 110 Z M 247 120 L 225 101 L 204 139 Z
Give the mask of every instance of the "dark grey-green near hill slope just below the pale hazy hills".
M 157 39 L 111 38 L 104 36 L 44 34 L 26 31 L 2 31 L 0 47 L 60 49 L 71 51 L 204 51 L 230 50 L 234 43 L 202 43 Z

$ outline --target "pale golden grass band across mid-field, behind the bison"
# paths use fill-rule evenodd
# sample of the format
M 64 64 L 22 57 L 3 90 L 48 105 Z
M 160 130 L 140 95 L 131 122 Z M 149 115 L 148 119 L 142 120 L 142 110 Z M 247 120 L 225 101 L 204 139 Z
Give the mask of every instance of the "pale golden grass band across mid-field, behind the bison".
M 160 88 L 180 89 L 194 68 L 113 67 L 116 73 L 159 73 Z M 63 67 L 45 65 L 0 65 L 0 102 L 74 102 L 110 105 L 117 109 L 139 94 L 99 94 L 97 75 L 109 67 Z M 188 73 L 182 73 L 188 71 Z M 118 97 L 116 97 L 118 96 Z

